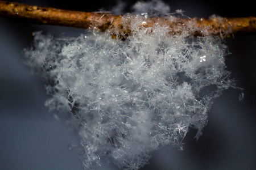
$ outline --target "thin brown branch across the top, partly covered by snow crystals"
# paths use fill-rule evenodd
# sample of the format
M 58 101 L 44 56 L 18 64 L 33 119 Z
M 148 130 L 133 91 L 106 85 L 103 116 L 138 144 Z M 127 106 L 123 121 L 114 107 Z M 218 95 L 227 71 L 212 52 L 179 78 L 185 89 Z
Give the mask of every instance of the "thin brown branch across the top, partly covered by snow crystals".
M 129 17 L 112 15 L 109 12 L 81 12 L 60 10 L 52 7 L 24 5 L 22 3 L 0 1 L 0 17 L 22 20 L 36 24 L 60 25 L 75 28 L 95 28 L 100 31 L 110 30 L 113 35 L 129 35 Z M 152 28 L 154 25 L 168 25 L 170 35 L 177 35 L 182 29 L 190 29 L 193 36 L 222 35 L 227 37 L 234 33 L 255 33 L 256 17 L 248 18 L 210 18 L 183 19 L 144 18 L 139 27 Z M 190 24 L 194 22 L 196 24 Z M 182 29 L 181 29 L 182 28 Z

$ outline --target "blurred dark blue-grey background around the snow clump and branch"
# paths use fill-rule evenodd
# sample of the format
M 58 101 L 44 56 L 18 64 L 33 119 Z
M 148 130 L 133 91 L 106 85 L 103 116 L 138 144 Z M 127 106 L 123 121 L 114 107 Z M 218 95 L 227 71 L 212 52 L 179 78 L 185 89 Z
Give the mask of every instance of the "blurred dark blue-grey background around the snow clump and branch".
M 80 11 L 111 11 L 117 1 L 15 1 Z M 125 12 L 136 1 L 122 1 Z M 189 17 L 208 18 L 256 16 L 252 1 L 164 1 L 185 11 Z M 77 137 L 48 108 L 44 84 L 22 60 L 24 48 L 31 45 L 32 32 L 55 36 L 79 36 L 83 29 L 33 25 L 0 18 L 0 169 L 77 169 L 82 170 L 79 155 L 69 150 Z M 198 141 L 191 129 L 184 139 L 184 151 L 166 146 L 153 153 L 142 169 L 256 169 L 256 36 L 235 35 L 225 39 L 232 54 L 226 56 L 227 70 L 237 86 L 218 98 L 209 114 L 209 122 Z M 104 162 L 98 169 L 118 169 Z

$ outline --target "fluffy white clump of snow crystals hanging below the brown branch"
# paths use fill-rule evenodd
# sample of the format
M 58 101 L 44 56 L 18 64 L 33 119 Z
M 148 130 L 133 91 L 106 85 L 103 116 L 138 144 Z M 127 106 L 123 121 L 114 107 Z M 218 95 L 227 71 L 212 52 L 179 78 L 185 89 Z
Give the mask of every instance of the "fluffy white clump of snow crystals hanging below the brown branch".
M 188 28 L 170 36 L 168 27 L 139 27 L 144 14 L 127 18 L 126 41 L 97 31 L 63 38 L 37 32 L 24 52 L 46 82 L 46 105 L 80 135 L 85 169 L 101 159 L 138 169 L 159 147 L 182 150 L 189 127 L 198 138 L 213 100 L 233 86 L 220 39 L 189 38 Z

